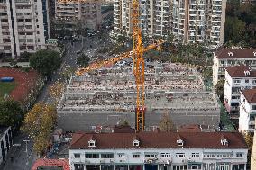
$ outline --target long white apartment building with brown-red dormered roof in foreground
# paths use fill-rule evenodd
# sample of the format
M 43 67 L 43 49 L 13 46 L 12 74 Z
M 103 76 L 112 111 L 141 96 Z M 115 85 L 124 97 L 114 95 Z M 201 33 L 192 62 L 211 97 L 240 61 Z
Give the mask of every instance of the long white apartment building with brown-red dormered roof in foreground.
M 238 132 L 75 133 L 72 170 L 246 169 L 247 146 Z

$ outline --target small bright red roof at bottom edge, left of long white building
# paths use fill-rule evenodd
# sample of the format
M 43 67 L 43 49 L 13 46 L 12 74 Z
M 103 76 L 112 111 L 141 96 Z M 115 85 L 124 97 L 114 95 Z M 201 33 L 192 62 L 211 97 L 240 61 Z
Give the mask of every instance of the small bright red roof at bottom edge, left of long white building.
M 57 166 L 62 167 L 63 170 L 70 170 L 69 160 L 66 159 L 37 159 L 32 166 L 32 170 L 37 170 L 40 166 Z

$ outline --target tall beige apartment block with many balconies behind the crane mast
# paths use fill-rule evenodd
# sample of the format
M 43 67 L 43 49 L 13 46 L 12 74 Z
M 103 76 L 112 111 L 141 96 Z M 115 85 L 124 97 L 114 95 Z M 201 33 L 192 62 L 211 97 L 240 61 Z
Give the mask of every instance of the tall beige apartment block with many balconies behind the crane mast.
M 132 0 L 115 0 L 114 31 L 132 33 Z M 176 42 L 206 42 L 215 49 L 224 43 L 226 0 L 141 0 L 142 33 L 174 35 Z

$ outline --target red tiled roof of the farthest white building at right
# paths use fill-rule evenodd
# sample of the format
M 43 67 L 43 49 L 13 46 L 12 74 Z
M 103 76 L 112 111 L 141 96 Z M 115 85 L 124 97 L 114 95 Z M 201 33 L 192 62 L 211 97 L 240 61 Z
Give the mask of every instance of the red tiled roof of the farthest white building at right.
M 233 56 L 229 56 L 229 52 L 233 52 Z M 215 52 L 217 58 L 256 58 L 253 52 L 256 49 L 231 49 L 222 48 Z

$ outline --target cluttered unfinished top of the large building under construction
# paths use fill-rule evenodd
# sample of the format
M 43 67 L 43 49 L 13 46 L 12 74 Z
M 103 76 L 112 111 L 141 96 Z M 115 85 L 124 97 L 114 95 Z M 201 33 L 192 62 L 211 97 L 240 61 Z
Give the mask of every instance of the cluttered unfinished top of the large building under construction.
M 157 64 L 145 68 L 146 105 L 152 109 L 215 109 L 212 94 L 205 91 L 200 74 L 178 64 Z M 72 76 L 59 110 L 134 110 L 136 85 L 132 67 L 113 67 L 94 74 Z

